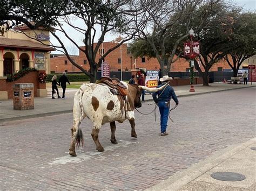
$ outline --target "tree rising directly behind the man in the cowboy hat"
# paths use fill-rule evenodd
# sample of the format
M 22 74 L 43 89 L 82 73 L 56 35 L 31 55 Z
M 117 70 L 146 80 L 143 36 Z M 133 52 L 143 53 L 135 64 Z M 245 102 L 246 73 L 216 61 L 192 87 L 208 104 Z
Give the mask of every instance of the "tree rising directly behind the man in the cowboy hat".
M 153 9 L 145 9 L 147 17 L 140 17 L 147 20 L 147 27 L 139 28 L 137 41 L 130 45 L 130 49 L 136 57 L 157 58 L 161 73 L 167 75 L 171 64 L 183 53 L 183 41 L 189 36 L 190 28 L 196 25 L 194 31 L 198 32 L 211 27 L 211 18 L 215 16 L 216 8 L 221 8 L 221 1 L 159 0 L 152 4 Z

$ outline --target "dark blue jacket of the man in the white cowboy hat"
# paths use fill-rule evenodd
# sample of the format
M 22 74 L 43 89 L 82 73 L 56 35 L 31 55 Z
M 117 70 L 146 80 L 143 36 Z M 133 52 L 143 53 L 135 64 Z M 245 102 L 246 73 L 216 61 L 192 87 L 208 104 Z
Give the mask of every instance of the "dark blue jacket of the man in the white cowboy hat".
M 158 86 L 158 88 L 161 87 L 161 86 L 164 86 L 164 84 L 166 84 L 166 82 L 160 84 Z M 163 94 L 161 94 L 162 91 L 163 91 Z M 159 97 L 159 95 L 160 95 L 160 97 Z M 165 89 L 163 89 L 163 90 L 154 92 L 152 96 L 153 96 L 154 102 L 156 102 L 156 103 L 158 103 L 158 102 L 169 102 L 171 100 L 171 98 L 173 98 L 174 102 L 176 104 L 179 104 L 178 98 L 177 98 L 173 88 L 170 85 L 167 85 L 167 87 L 165 87 Z

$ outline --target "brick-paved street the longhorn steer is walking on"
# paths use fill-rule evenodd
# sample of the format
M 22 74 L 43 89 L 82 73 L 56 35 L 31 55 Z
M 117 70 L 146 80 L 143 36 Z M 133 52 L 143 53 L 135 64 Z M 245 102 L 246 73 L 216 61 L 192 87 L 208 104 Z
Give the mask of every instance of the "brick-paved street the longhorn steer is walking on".
M 118 144 L 105 124 L 96 151 L 91 122 L 82 123 L 85 145 L 69 156 L 72 114 L 0 123 L 1 190 L 134 190 L 156 185 L 214 152 L 255 137 L 256 88 L 180 97 L 169 136 L 159 136 L 159 111 L 136 111 L 136 133 L 117 124 Z M 154 105 L 143 103 L 148 113 Z M 172 107 L 174 102 L 171 101 Z

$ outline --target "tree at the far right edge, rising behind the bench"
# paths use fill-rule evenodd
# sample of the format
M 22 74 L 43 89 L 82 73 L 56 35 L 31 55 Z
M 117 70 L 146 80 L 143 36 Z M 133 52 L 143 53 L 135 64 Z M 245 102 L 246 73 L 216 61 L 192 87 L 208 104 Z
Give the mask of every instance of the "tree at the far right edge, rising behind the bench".
M 230 18 L 232 25 L 224 36 L 228 39 L 226 45 L 231 49 L 224 59 L 233 69 L 233 76 L 237 77 L 242 62 L 256 54 L 256 13 L 238 12 Z

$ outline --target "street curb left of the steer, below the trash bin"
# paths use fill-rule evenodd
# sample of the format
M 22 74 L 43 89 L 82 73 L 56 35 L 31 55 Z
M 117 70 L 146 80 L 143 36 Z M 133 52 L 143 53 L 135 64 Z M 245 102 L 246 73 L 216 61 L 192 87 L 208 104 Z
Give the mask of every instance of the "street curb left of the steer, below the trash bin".
M 22 119 L 37 118 L 37 117 L 53 116 L 53 115 L 59 115 L 59 114 L 68 114 L 68 113 L 71 113 L 71 112 L 73 112 L 73 110 L 54 111 L 54 112 L 48 112 L 48 113 L 42 113 L 42 114 L 33 114 L 33 115 L 26 115 L 26 116 L 10 117 L 10 118 L 5 118 L 5 119 L 0 119 L 0 123 L 10 122 L 10 121 L 17 121 L 17 120 L 22 120 Z

